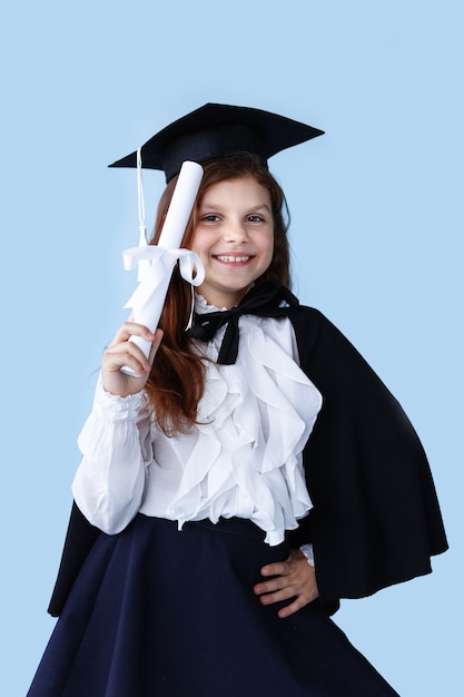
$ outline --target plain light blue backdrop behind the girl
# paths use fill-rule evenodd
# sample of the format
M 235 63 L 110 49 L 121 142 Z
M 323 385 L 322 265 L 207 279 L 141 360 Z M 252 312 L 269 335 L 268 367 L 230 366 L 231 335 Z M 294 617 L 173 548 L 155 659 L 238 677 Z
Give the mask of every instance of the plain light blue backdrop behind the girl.
M 138 239 L 136 175 L 107 165 L 207 101 L 326 130 L 270 163 L 293 215 L 295 288 L 403 403 L 452 546 L 432 576 L 345 602 L 336 620 L 403 697 L 464 695 L 461 8 L 3 7 L 2 696 L 26 694 L 53 627 L 76 439 L 135 286 L 121 255 Z M 145 187 L 151 220 L 161 175 Z

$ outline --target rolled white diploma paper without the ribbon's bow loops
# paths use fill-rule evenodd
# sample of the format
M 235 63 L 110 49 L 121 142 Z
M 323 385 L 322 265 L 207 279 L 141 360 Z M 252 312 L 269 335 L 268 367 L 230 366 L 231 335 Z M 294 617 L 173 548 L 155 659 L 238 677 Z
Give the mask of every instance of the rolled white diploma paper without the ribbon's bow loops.
M 166 215 L 158 247 L 166 249 L 165 254 L 157 254 L 157 258 L 146 265 L 140 286 L 132 295 L 126 307 L 132 307 L 134 322 L 144 324 L 150 332 L 155 332 L 158 326 L 166 294 L 178 256 L 175 251 L 180 247 L 184 233 L 190 217 L 198 188 L 203 177 L 203 167 L 198 163 L 185 161 L 179 171 L 179 178 L 172 194 L 172 198 Z M 141 249 L 145 249 L 141 247 Z M 142 287 L 141 287 L 142 286 Z M 151 343 L 140 336 L 131 336 L 144 354 L 148 357 Z M 129 374 L 134 374 L 130 369 L 121 369 Z

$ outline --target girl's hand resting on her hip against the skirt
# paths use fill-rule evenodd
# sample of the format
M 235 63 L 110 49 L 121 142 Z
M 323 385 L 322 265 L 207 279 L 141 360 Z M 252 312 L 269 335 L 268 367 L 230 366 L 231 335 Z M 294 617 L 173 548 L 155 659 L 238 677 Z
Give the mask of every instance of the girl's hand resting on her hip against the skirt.
M 255 595 L 260 596 L 263 605 L 272 605 L 295 598 L 293 602 L 280 608 L 277 615 L 289 617 L 319 596 L 316 572 L 299 549 L 293 549 L 286 561 L 278 561 L 263 567 L 261 576 L 273 576 L 268 581 L 257 583 Z

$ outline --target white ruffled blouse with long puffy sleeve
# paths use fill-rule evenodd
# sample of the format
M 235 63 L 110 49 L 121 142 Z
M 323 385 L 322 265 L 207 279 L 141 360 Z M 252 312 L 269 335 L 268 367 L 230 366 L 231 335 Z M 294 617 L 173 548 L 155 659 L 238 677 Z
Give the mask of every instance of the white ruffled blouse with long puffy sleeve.
M 216 311 L 197 297 L 199 312 Z M 198 351 L 215 361 L 225 327 Z M 97 386 L 80 435 L 72 492 L 86 518 L 107 533 L 138 513 L 178 521 L 237 516 L 279 544 L 312 508 L 303 448 L 322 395 L 298 366 L 288 318 L 244 315 L 234 365 L 206 361 L 198 425 L 166 436 L 144 392 L 119 397 Z

